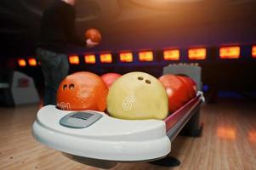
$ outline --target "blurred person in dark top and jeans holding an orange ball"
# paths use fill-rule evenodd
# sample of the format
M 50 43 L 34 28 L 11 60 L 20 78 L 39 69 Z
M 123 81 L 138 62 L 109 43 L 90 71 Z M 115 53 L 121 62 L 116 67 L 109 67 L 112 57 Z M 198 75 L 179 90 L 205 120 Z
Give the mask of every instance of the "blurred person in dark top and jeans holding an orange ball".
M 98 43 L 75 37 L 76 0 L 58 0 L 43 12 L 37 59 L 44 77 L 43 105 L 56 105 L 60 82 L 69 73 L 68 44 L 92 48 Z

